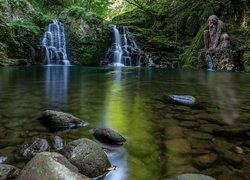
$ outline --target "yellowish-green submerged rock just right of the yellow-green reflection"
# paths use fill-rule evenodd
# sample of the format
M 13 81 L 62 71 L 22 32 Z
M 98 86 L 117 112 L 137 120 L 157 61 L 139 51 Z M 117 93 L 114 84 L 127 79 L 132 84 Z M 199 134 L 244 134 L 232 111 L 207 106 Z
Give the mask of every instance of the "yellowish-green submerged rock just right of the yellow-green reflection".
M 165 141 L 166 149 L 169 153 L 173 154 L 189 154 L 191 146 L 186 139 L 172 139 Z

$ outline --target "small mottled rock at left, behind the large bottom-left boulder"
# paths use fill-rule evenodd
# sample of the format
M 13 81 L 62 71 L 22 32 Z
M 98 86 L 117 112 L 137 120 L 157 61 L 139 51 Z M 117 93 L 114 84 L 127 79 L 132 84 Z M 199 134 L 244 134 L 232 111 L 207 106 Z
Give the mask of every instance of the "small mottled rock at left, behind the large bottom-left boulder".
M 25 157 L 33 157 L 37 153 L 45 152 L 49 149 L 49 144 L 46 139 L 36 138 L 30 144 L 23 146 L 21 155 Z

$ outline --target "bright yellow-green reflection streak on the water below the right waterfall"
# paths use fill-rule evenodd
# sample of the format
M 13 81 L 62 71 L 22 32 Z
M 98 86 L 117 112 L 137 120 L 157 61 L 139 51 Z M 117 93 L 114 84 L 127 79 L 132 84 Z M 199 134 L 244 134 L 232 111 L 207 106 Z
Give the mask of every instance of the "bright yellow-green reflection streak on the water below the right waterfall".
M 106 125 L 128 137 L 127 179 L 155 179 L 158 151 L 139 69 L 117 70 L 106 94 Z M 139 77 L 139 79 L 138 79 Z M 135 78 L 135 79 L 134 79 Z M 119 168 L 119 167 L 118 167 Z

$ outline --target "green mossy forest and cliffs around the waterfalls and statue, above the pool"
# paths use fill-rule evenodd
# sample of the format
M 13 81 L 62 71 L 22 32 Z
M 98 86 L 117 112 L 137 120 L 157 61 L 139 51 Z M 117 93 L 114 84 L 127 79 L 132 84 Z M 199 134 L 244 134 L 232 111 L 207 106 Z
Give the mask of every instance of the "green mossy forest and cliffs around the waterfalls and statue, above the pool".
M 226 23 L 250 66 L 247 0 L 0 0 L 0 64 L 42 63 L 41 38 L 50 20 L 59 19 L 76 64 L 99 64 L 111 44 L 108 24 L 116 24 L 128 26 L 156 63 L 194 68 L 212 14 Z

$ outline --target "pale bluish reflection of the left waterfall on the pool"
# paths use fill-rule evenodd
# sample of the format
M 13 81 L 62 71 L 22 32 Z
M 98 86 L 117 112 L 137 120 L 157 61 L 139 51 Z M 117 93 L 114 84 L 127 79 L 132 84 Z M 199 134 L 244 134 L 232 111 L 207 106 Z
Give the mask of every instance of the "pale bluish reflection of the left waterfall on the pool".
M 45 67 L 45 93 L 50 108 L 65 108 L 68 99 L 69 66 Z

